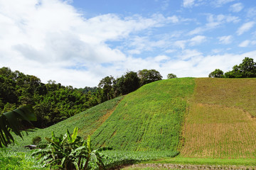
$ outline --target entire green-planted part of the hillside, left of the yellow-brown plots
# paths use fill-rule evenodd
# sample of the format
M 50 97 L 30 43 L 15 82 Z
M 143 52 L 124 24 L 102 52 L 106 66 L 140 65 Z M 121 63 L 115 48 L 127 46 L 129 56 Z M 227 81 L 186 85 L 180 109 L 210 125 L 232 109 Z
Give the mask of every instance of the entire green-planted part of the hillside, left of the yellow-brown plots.
M 187 98 L 193 94 L 194 86 L 193 78 L 155 81 L 49 128 L 30 132 L 24 140 L 17 138 L 17 141 L 29 145 L 33 137 L 43 139 L 52 131 L 64 134 L 66 129 L 72 132 L 77 126 L 79 135 L 85 138 L 92 135 L 97 146 L 130 151 L 176 150 Z

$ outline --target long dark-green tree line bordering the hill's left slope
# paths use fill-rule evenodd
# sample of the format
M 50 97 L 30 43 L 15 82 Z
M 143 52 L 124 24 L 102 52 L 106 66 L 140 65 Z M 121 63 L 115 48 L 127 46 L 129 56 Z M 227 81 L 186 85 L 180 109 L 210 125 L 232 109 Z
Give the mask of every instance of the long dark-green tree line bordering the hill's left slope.
M 175 78 L 170 74 L 169 78 Z M 107 76 L 96 87 L 76 89 L 63 86 L 56 81 L 43 84 L 41 79 L 22 72 L 12 72 L 8 67 L 0 68 L 0 113 L 31 105 L 36 113 L 36 128 L 46 128 L 65 120 L 87 108 L 129 94 L 140 86 L 161 80 L 161 74 L 155 69 L 142 69 L 139 72 L 126 72 L 114 79 Z

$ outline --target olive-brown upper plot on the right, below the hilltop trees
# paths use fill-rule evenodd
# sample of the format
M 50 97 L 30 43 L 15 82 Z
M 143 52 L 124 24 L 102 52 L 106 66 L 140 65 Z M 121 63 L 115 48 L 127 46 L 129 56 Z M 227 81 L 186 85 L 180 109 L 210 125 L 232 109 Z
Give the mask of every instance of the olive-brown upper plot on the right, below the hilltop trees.
M 241 108 L 256 116 L 256 79 L 196 79 L 196 103 Z

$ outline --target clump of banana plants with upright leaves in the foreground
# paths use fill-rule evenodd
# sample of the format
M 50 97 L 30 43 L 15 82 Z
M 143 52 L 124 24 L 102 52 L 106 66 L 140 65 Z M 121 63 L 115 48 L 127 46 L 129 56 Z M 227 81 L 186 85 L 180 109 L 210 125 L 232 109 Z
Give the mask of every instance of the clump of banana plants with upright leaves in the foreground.
M 74 129 L 73 135 L 67 130 L 65 135 L 47 138 L 46 145 L 40 145 L 41 149 L 36 150 L 33 155 L 39 155 L 46 164 L 58 165 L 62 169 L 95 169 L 96 165 L 100 169 L 105 169 L 102 162 L 103 155 L 100 151 L 110 148 L 92 149 L 90 145 L 90 135 L 87 142 L 78 136 L 78 128 Z

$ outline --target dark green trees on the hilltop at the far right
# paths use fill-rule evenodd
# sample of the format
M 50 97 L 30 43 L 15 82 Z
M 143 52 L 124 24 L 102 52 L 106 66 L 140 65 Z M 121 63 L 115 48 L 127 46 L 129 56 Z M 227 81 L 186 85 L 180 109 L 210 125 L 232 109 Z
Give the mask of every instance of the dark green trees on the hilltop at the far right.
M 223 72 L 215 69 L 208 77 L 213 78 L 253 78 L 256 77 L 256 62 L 252 58 L 245 57 L 242 63 L 235 65 L 231 71 Z

